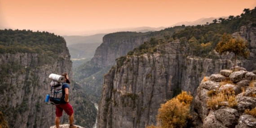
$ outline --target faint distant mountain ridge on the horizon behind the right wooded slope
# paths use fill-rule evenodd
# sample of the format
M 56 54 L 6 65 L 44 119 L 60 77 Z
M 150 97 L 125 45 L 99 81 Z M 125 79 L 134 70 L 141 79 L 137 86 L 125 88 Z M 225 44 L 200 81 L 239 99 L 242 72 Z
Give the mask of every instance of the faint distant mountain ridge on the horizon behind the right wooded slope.
M 219 18 L 228 18 L 228 17 L 219 17 Z M 219 18 L 200 18 L 196 21 L 192 21 L 192 22 L 178 22 L 172 26 L 181 26 L 181 25 L 185 25 L 185 26 L 193 26 L 193 25 L 203 25 L 206 24 L 207 22 L 212 23 L 212 21 L 214 19 L 219 19 Z

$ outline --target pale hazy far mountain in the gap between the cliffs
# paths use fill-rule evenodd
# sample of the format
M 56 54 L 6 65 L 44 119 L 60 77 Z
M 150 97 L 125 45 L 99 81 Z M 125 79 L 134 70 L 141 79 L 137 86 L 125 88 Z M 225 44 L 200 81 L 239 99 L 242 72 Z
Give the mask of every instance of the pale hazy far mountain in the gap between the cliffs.
M 91 43 L 102 43 L 102 37 L 106 34 L 96 34 L 96 35 L 88 35 L 88 36 L 79 36 L 79 35 L 64 35 L 64 39 L 66 40 L 66 44 L 91 44 Z

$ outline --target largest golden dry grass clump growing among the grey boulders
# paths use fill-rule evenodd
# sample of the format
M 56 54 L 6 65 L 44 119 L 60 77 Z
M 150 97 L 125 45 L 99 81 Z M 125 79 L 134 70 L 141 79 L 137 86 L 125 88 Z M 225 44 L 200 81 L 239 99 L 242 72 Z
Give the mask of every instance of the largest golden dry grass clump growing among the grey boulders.
M 228 105 L 226 104 L 228 103 Z M 221 93 L 218 93 L 215 96 L 212 96 L 207 100 L 208 108 L 212 110 L 218 110 L 221 106 L 228 106 L 234 108 L 237 106 L 235 101 L 235 92 L 230 90 L 223 90 Z

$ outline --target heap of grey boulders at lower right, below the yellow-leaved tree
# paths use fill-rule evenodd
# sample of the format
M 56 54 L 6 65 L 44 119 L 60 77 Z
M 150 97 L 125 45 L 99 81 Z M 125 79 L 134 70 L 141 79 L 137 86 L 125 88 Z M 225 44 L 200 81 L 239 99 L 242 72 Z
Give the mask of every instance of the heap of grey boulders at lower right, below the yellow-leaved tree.
M 227 84 L 225 80 L 207 79 L 207 81 L 202 81 L 197 89 L 197 96 L 194 100 L 194 110 L 203 122 L 203 128 L 255 128 L 256 118 L 244 112 L 246 109 L 256 107 L 256 87 L 254 84 L 242 84 L 243 86 L 238 84 L 243 82 L 253 83 L 251 80 L 254 79 L 251 79 L 249 82 L 244 80 L 246 79 L 246 74 L 252 74 L 252 72 L 243 70 L 225 70 L 221 72 L 232 72 L 229 76 L 225 75 L 225 80 L 228 80 L 228 83 L 231 84 Z M 230 102 L 223 101 L 219 104 L 215 104 L 216 110 L 211 110 L 207 102 L 213 100 L 211 99 L 211 92 L 216 92 L 216 90 L 219 90 L 218 93 L 224 90 L 234 90 L 235 100 L 232 104 L 236 105 L 231 106 Z

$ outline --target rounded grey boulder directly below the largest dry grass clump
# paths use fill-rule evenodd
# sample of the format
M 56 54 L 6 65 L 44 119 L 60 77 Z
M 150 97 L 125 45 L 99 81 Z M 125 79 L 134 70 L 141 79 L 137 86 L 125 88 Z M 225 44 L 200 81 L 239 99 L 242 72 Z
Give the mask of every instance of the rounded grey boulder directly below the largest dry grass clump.
M 218 119 L 226 127 L 234 128 L 238 124 L 238 111 L 230 107 L 222 107 L 214 112 L 216 119 Z

